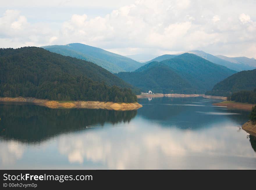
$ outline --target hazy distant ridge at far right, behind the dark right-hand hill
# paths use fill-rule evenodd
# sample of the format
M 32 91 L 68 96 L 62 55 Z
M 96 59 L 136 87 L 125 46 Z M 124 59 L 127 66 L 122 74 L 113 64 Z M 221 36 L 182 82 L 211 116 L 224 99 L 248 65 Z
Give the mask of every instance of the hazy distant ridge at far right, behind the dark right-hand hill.
M 202 58 L 204 58 L 208 61 L 211 61 L 212 63 L 223 65 L 223 66 L 225 66 L 229 69 L 235 70 L 235 71 L 243 71 L 243 70 L 252 70 L 252 69 L 254 69 L 254 67 L 252 67 L 250 65 L 247 65 L 247 64 L 244 64 L 244 63 L 235 64 L 235 63 L 232 63 L 228 60 L 221 59 L 217 56 L 208 54 L 208 53 L 200 51 L 200 50 L 192 50 L 192 51 L 188 51 L 188 53 L 198 55 L 198 56 L 200 56 L 200 57 L 202 57 Z

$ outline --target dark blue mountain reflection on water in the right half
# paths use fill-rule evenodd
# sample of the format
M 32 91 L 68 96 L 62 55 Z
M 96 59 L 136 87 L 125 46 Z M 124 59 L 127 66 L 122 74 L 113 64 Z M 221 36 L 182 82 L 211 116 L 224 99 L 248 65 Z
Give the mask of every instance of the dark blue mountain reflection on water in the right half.
M 242 125 L 248 120 L 248 113 L 239 110 L 224 110 L 211 106 L 212 102 L 207 102 L 202 97 L 188 98 L 153 98 L 138 99 L 143 105 L 138 109 L 138 115 L 148 120 L 161 122 L 161 125 L 175 125 L 179 128 L 200 128 L 213 123 L 221 123 L 224 120 L 232 120 L 238 125 Z M 203 100 L 203 101 L 202 101 Z M 231 115 L 211 115 L 212 113 L 231 113 Z M 238 113 L 232 115 L 232 113 Z

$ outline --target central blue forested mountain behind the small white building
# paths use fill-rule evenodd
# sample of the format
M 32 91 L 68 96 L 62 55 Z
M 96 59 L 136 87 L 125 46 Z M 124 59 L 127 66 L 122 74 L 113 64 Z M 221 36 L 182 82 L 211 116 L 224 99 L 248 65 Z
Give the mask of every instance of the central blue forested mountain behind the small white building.
M 144 92 L 205 93 L 216 83 L 236 73 L 195 54 L 184 53 L 161 62 L 150 62 L 134 72 L 116 74 Z M 151 88 L 150 88 L 151 87 Z

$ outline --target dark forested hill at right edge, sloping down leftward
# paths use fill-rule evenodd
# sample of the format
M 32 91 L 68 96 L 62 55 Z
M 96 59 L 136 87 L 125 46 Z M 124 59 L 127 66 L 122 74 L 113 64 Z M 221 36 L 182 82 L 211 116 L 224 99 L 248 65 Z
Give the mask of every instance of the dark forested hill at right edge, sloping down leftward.
M 253 90 L 256 88 L 256 69 L 241 71 L 227 77 L 217 83 L 213 89 L 206 94 L 214 96 L 231 96 L 232 93 L 241 90 Z

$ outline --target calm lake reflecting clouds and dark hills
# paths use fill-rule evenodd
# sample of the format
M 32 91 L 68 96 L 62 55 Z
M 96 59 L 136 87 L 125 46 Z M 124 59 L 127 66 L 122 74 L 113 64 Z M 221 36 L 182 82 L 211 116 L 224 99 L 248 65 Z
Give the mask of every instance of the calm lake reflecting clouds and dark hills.
M 139 99 L 135 111 L 0 104 L 0 169 L 256 169 L 249 112 Z

